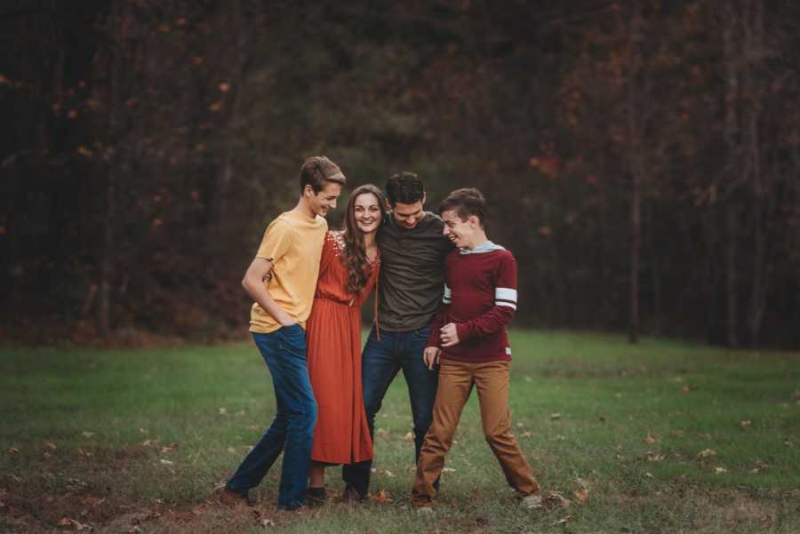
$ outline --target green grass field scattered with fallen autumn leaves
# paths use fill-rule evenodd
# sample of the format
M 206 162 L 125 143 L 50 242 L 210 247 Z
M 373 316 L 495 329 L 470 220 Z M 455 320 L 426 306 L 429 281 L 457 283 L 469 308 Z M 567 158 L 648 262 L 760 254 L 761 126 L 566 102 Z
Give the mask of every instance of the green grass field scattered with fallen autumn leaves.
M 212 498 L 268 424 L 249 344 L 124 351 L 3 348 L 3 532 L 800 531 L 800 355 L 513 331 L 515 434 L 547 496 L 521 509 L 468 403 L 436 513 L 409 508 L 402 378 L 377 420 L 372 500 L 253 511 Z

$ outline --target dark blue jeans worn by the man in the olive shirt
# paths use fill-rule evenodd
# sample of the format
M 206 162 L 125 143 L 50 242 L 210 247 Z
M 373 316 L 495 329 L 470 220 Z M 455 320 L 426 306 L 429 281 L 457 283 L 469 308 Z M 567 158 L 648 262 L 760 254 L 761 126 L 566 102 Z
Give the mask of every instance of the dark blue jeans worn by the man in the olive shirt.
M 427 326 L 415 331 L 380 331 L 379 341 L 373 327 L 361 356 L 364 410 L 373 437 L 375 414 L 380 410 L 383 397 L 397 372 L 403 370 L 412 405 L 415 462 L 420 458 L 422 442 L 433 420 L 433 404 L 436 400 L 437 372 L 429 370 L 422 360 L 429 333 Z M 343 467 L 341 476 L 344 482 L 364 496 L 370 488 L 371 469 L 372 460 L 349 464 Z

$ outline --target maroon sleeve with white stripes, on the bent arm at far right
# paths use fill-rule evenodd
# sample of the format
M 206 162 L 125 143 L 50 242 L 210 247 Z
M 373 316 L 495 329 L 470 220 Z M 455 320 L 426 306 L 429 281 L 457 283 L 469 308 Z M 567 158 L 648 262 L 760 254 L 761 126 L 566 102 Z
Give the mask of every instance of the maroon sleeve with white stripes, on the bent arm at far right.
M 516 313 L 516 259 L 504 254 L 497 267 L 494 306 L 483 315 L 458 323 L 459 340 L 484 337 L 504 328 Z

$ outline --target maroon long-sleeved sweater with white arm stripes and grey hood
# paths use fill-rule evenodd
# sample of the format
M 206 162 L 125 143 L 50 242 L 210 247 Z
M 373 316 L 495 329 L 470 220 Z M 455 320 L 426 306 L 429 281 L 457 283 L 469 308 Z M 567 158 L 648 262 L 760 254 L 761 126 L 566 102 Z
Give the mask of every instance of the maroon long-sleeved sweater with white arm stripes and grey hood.
M 485 251 L 482 251 L 485 250 Z M 516 312 L 516 259 L 489 243 L 476 251 L 452 251 L 444 260 L 444 299 L 431 324 L 428 347 L 458 362 L 510 360 L 506 325 Z M 439 332 L 455 323 L 459 343 L 441 347 Z

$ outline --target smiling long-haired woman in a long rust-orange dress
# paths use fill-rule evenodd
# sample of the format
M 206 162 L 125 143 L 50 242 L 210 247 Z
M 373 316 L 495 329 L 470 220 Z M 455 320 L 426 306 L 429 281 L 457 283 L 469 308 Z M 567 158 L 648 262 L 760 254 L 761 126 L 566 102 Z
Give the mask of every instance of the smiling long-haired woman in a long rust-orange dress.
M 325 236 L 306 330 L 308 374 L 317 403 L 308 488 L 312 500 L 324 500 L 325 466 L 372 458 L 361 384 L 361 305 L 378 281 L 375 235 L 385 205 L 378 187 L 356 188 L 346 229 Z

